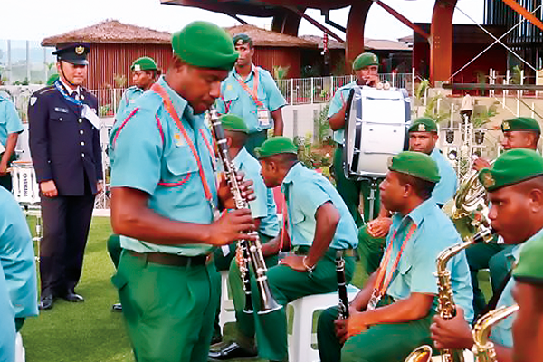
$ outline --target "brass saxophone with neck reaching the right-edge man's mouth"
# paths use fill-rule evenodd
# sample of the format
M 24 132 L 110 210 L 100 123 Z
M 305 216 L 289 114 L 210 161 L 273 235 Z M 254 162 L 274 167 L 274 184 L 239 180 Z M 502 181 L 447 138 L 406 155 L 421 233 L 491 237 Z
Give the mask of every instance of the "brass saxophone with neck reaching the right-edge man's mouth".
M 456 307 L 454 305 L 452 286 L 451 286 L 451 271 L 447 270 L 447 263 L 451 258 L 462 252 L 468 246 L 474 243 L 487 243 L 492 239 L 493 230 L 482 228 L 481 232 L 476 233 L 472 237 L 466 237 L 462 243 L 457 243 L 440 252 L 435 260 L 437 277 L 437 313 L 445 320 L 449 320 L 456 316 Z M 405 362 L 425 362 L 432 358 L 433 350 L 428 345 L 423 345 L 414 349 Z M 443 362 L 463 361 L 462 351 L 453 349 L 441 350 L 441 360 Z

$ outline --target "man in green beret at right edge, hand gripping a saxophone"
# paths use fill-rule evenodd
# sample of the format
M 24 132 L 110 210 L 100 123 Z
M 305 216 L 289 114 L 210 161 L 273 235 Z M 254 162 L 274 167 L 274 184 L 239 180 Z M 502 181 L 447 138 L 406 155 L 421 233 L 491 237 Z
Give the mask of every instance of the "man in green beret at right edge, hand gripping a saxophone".
M 489 193 L 492 227 L 505 243 L 514 245 L 512 264 L 519 260 L 522 243 L 543 237 L 543 158 L 526 148 L 513 149 L 501 155 L 491 168 L 483 168 L 479 179 Z M 508 275 L 506 282 L 491 300 L 489 310 L 514 304 L 511 291 L 515 281 Z M 472 329 L 462 319 L 463 314 L 458 309 L 453 319 L 434 317 L 431 330 L 436 348 L 472 348 Z M 504 319 L 491 330 L 491 342 L 500 362 L 512 360 L 512 319 Z

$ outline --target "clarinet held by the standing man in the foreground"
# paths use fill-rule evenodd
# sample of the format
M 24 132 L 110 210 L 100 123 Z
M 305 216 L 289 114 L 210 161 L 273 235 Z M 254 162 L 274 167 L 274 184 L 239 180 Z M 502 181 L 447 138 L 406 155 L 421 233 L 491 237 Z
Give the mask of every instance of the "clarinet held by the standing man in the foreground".
M 224 136 L 223 124 L 219 120 L 217 111 L 212 107 L 206 114 L 208 120 L 212 126 L 214 138 L 218 148 L 219 158 L 223 162 L 224 174 L 230 190 L 233 195 L 236 209 L 249 208 L 249 203 L 242 196 L 240 184 L 237 179 L 237 171 L 233 160 L 228 152 L 228 144 L 226 143 L 226 137 Z M 238 248 L 243 253 L 243 264 L 240 267 L 240 273 L 243 279 L 243 290 L 245 291 L 245 309 L 243 311 L 251 313 L 252 308 L 252 291 L 251 291 L 251 279 L 249 275 L 248 265 L 251 263 L 252 270 L 254 271 L 256 285 L 258 287 L 259 298 L 261 308 L 258 311 L 259 314 L 269 313 L 274 310 L 280 310 L 281 305 L 275 301 L 271 294 L 270 285 L 268 284 L 268 277 L 266 276 L 266 263 L 264 262 L 264 256 L 262 254 L 262 245 L 258 237 L 258 232 L 253 231 L 247 233 L 256 237 L 255 241 L 240 240 L 238 242 Z

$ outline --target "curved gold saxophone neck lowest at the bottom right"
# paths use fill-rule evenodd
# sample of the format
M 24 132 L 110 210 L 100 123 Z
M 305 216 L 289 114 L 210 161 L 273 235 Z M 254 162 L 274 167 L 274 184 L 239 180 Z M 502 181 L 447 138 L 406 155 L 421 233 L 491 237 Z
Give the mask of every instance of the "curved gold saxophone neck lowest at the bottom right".
M 511 314 L 519 310 L 519 305 L 514 304 L 510 307 L 500 307 L 497 310 L 491 310 L 482 316 L 473 327 L 473 348 L 472 352 L 475 357 L 475 362 L 495 362 L 496 350 L 494 344 L 489 341 L 491 327 L 498 323 L 501 319 L 506 319 Z

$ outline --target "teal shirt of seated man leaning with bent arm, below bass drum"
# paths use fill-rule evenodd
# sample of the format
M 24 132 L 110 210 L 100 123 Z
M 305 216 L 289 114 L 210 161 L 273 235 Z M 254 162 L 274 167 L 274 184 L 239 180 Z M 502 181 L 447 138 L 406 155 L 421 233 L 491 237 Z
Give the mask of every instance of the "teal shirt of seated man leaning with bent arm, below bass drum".
M 339 223 L 329 247 L 354 249 L 357 247 L 357 224 L 345 202 L 329 180 L 300 162 L 291 167 L 281 190 L 287 203 L 289 236 L 292 246 L 311 246 L 317 227 L 315 215 L 320 205 L 331 202 L 339 213 Z

